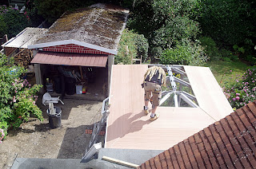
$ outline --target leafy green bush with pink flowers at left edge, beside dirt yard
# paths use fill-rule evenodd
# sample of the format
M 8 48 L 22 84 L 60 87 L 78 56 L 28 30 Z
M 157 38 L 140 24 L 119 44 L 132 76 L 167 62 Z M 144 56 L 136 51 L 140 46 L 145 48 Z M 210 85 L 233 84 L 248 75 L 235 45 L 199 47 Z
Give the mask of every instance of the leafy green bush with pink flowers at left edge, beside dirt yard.
M 14 66 L 13 59 L 8 61 L 5 55 L 0 55 L 0 128 L 4 132 L 18 128 L 31 114 L 43 120 L 42 111 L 35 104 L 36 93 L 42 85 L 31 86 L 20 78 L 22 73 L 25 69 Z

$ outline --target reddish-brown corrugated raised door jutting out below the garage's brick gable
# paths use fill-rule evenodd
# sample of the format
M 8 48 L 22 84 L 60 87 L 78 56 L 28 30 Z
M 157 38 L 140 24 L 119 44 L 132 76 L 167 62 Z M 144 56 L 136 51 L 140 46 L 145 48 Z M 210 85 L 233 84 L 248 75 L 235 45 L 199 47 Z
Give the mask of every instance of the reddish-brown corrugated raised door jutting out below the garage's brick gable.
M 106 67 L 107 55 L 39 52 L 31 63 Z

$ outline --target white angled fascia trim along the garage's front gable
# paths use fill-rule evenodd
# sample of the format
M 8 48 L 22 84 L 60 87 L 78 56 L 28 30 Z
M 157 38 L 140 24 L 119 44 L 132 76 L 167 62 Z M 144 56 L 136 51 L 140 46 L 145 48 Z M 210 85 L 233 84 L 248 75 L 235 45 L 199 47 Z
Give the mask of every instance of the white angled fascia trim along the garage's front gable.
M 118 51 L 116 51 L 116 50 L 103 48 L 101 46 L 92 45 L 92 44 L 82 42 L 82 41 L 76 41 L 74 39 L 39 43 L 39 44 L 35 44 L 35 45 L 28 45 L 27 47 L 28 47 L 28 49 L 36 49 L 36 48 L 50 47 L 50 46 L 54 46 L 54 45 L 67 45 L 67 44 L 82 45 L 82 46 L 90 48 L 90 49 L 96 49 L 96 50 L 100 50 L 100 51 L 106 52 L 106 53 L 111 53 L 114 55 L 118 54 Z

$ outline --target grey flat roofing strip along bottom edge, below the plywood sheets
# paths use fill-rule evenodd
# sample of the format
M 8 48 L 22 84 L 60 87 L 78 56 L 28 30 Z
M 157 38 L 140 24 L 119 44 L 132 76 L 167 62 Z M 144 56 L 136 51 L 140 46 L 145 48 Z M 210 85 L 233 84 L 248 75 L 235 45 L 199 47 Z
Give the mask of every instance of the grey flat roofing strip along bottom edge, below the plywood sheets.
M 130 149 L 111 149 L 102 148 L 98 153 L 98 159 L 92 159 L 87 163 L 80 163 L 81 159 L 26 159 L 17 158 L 11 169 L 82 169 L 82 168 L 120 168 L 129 167 L 121 166 L 116 163 L 110 163 L 102 160 L 102 156 L 119 159 L 134 164 L 144 163 L 146 160 L 161 153 L 162 150 L 130 150 Z

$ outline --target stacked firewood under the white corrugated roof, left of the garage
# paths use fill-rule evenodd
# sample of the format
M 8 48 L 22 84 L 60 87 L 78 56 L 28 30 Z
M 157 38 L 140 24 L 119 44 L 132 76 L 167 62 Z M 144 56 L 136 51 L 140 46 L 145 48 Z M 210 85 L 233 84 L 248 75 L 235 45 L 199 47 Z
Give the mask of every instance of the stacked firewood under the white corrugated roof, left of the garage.
M 14 62 L 16 65 L 21 65 L 28 68 L 30 61 L 33 59 L 33 52 L 30 49 L 21 49 L 21 51 L 14 55 Z

